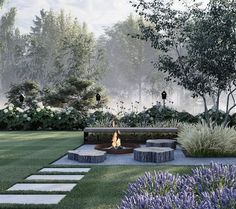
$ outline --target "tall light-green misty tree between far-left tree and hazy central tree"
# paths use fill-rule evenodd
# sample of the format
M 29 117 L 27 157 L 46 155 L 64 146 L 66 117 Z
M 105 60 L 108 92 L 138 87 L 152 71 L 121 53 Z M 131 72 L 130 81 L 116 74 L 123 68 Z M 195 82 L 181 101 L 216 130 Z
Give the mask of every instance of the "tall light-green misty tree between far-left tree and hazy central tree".
M 26 53 L 22 62 L 22 78 L 37 80 L 42 87 L 61 82 L 66 77 L 94 77 L 95 52 L 93 34 L 76 18 L 40 11 L 28 36 Z M 27 72 L 27 73 L 26 73 Z

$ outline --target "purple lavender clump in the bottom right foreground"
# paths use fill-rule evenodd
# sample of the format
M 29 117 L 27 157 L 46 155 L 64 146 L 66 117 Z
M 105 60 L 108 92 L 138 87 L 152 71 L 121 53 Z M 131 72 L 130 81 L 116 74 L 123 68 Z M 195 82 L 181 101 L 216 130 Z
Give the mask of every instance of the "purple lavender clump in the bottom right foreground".
M 236 166 L 211 164 L 191 175 L 145 173 L 129 185 L 118 209 L 235 209 Z

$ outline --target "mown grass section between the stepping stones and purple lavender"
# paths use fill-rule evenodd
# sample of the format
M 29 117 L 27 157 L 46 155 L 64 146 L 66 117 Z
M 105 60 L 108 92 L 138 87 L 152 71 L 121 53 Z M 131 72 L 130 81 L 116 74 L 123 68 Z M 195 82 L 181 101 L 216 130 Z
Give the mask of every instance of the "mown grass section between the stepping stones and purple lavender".
M 189 173 L 183 166 L 95 166 L 55 209 L 113 209 L 117 208 L 128 184 L 145 172 L 168 171 Z

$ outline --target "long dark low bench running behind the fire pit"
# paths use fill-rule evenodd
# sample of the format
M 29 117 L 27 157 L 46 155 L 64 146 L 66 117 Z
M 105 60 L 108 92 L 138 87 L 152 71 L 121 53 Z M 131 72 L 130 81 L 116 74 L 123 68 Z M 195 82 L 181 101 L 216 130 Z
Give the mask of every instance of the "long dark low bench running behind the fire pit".
M 108 143 L 112 134 L 119 130 L 122 142 L 146 143 L 150 138 L 175 138 L 177 128 L 153 128 L 153 127 L 96 127 L 84 129 L 84 142 L 86 144 Z M 163 136 L 160 136 L 160 135 Z

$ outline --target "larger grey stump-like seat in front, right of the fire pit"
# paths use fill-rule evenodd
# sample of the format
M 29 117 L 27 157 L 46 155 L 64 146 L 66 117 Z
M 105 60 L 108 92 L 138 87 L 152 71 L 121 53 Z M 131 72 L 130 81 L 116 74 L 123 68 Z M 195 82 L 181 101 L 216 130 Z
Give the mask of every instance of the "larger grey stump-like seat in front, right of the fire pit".
M 141 147 L 134 149 L 134 160 L 162 163 L 174 160 L 174 150 L 169 147 Z

